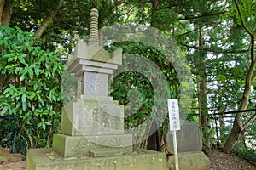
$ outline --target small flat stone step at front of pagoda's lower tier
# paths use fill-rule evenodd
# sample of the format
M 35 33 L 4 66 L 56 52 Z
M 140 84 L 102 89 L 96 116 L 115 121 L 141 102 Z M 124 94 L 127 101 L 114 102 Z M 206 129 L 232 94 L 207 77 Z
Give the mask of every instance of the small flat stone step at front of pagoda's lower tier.
M 123 150 L 89 150 L 89 156 L 105 157 L 105 156 L 122 156 Z

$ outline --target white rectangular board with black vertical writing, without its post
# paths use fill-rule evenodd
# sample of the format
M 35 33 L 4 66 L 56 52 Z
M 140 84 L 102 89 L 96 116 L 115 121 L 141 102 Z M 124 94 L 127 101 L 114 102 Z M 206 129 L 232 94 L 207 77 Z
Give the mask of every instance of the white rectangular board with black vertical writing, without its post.
M 170 131 L 180 130 L 177 99 L 168 99 Z

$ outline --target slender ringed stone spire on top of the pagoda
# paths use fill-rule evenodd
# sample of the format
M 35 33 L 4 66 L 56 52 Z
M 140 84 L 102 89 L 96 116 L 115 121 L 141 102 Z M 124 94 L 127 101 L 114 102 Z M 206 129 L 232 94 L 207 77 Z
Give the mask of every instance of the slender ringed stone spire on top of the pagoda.
M 89 45 L 99 45 L 98 17 L 98 10 L 96 8 L 92 8 L 90 11 Z

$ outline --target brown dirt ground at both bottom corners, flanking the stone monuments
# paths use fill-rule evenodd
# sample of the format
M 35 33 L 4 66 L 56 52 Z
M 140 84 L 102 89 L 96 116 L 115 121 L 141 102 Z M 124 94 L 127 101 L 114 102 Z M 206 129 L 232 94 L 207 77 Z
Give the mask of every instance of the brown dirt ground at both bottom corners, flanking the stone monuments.
M 211 150 L 209 159 L 211 167 L 206 170 L 256 170 L 255 165 L 235 154 L 228 155 L 218 150 Z M 26 157 L 0 149 L 0 170 L 26 170 Z

